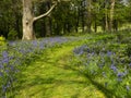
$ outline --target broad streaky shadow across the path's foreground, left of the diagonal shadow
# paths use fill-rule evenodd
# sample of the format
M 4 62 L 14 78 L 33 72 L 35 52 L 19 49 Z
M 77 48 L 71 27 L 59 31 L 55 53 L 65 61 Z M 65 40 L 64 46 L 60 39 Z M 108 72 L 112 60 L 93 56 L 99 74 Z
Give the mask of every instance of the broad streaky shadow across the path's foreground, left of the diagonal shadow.
M 15 94 L 12 95 L 10 98 L 15 98 L 15 95 L 20 95 L 16 93 L 16 90 L 23 90 L 23 89 L 29 89 L 32 87 L 35 88 L 35 86 L 39 86 L 40 88 L 36 88 L 36 90 L 33 90 L 33 93 L 29 93 L 29 95 L 27 95 L 27 97 L 32 98 L 34 96 L 36 96 L 37 94 L 41 93 L 43 96 L 41 98 L 52 98 L 53 95 L 51 95 L 51 93 L 53 93 L 59 86 L 61 85 L 70 85 L 70 84 L 76 84 L 76 85 L 87 85 L 86 82 L 83 81 L 70 81 L 70 79 L 56 79 L 55 77 L 40 77 L 38 75 L 36 75 L 34 78 L 29 79 L 31 83 L 26 84 L 26 81 L 22 81 L 21 84 L 25 83 L 25 85 L 20 85 L 17 87 L 15 87 Z M 64 90 L 64 88 L 63 88 Z M 79 97 L 79 93 L 75 93 L 74 95 L 71 96 L 71 98 L 80 98 Z

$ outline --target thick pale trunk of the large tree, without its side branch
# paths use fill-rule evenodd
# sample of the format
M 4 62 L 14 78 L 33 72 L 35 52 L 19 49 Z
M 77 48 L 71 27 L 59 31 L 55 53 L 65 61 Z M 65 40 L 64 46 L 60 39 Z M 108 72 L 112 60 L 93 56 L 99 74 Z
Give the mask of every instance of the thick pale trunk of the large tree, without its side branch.
M 23 0 L 23 40 L 34 39 L 33 33 L 33 3 L 32 0 Z

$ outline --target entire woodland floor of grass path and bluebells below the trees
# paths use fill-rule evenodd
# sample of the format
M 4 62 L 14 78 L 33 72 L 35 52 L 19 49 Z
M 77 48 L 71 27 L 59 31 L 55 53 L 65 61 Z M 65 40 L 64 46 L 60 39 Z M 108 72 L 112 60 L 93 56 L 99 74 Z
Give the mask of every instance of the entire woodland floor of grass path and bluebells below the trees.
M 78 78 L 75 76 L 73 77 L 72 74 L 80 74 L 80 81 L 85 83 L 82 83 L 82 88 L 78 89 L 82 90 L 84 87 L 87 88 L 87 93 L 80 94 L 80 98 L 97 98 L 98 96 L 100 98 L 130 98 L 130 30 L 122 30 L 114 34 L 102 33 L 87 34 L 79 37 L 52 37 L 32 41 L 11 41 L 1 50 L 1 96 L 40 98 L 44 96 L 43 94 L 33 94 L 38 90 L 37 87 L 31 86 L 31 95 L 26 90 L 28 85 L 34 84 L 34 79 L 32 78 L 36 79 L 37 76 L 46 74 L 48 75 L 47 78 L 52 77 L 53 79 L 58 79 L 61 74 L 63 76 L 60 75 L 59 81 L 55 81 L 55 84 L 58 84 L 62 82 L 60 79 L 70 78 L 70 75 L 71 78 Z M 24 46 L 21 46 L 23 44 Z M 39 58 L 43 59 L 39 60 Z M 34 63 L 34 60 L 36 62 L 38 61 L 39 64 Z M 41 68 L 43 65 L 46 68 Z M 61 69 L 58 68 L 64 68 L 66 70 L 61 72 Z M 72 71 L 68 77 L 64 76 L 69 73 L 67 69 Z M 41 78 L 45 78 L 45 76 L 41 76 Z M 51 79 L 46 81 L 46 83 L 45 79 L 36 79 L 36 84 L 34 85 L 37 86 L 39 82 L 41 82 L 41 87 L 43 85 L 46 87 L 48 84 L 53 84 L 53 81 L 50 83 Z M 72 84 L 73 82 L 70 85 L 72 86 Z M 87 84 L 92 86 L 87 86 Z M 21 85 L 25 89 L 21 89 Z M 61 90 L 67 85 L 61 85 Z M 79 85 L 81 84 L 75 84 L 72 87 L 75 88 Z M 45 89 L 44 87 L 41 90 Z M 48 91 L 52 90 L 48 87 L 47 89 Z M 67 87 L 67 89 L 70 90 L 70 87 Z M 92 93 L 94 89 L 96 94 Z M 55 91 L 55 94 L 52 93 L 53 95 L 49 95 L 48 91 L 45 94 L 45 97 L 52 98 L 58 96 L 64 98 L 62 94 L 57 94 L 59 90 L 57 93 Z M 75 91 L 78 93 L 78 90 Z M 75 91 L 71 91 L 72 95 L 70 93 L 67 96 L 71 97 Z

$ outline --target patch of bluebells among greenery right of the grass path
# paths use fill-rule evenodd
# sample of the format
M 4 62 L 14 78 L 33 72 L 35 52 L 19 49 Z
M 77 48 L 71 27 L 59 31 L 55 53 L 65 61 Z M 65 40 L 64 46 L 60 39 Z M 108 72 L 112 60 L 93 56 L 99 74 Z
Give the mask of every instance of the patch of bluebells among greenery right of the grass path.
M 129 91 L 123 94 L 127 96 L 131 94 L 131 60 L 126 62 L 124 57 L 127 56 L 123 54 L 121 59 L 121 52 L 119 53 L 119 50 L 108 50 L 108 48 L 105 49 L 106 46 L 106 44 L 82 45 L 74 48 L 74 57 L 79 57 L 78 60 L 83 63 L 81 64 L 83 65 L 83 72 L 91 75 L 94 81 L 100 78 L 100 84 L 111 90 L 116 89 L 117 91 L 122 89 L 122 93 Z M 81 61 L 82 58 L 84 59 L 83 61 Z M 112 83 L 110 83 L 110 81 L 112 81 Z M 127 82 L 129 83 L 128 85 Z M 115 95 L 122 96 L 117 93 Z

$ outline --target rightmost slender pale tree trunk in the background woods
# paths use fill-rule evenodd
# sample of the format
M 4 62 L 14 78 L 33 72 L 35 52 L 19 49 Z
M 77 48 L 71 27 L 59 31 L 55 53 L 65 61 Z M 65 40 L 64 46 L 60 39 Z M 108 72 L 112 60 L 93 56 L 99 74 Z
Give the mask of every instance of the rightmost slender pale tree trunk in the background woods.
M 115 0 L 110 0 L 110 16 L 109 16 L 109 30 L 112 30 L 112 21 L 114 21 L 114 9 L 115 9 Z

